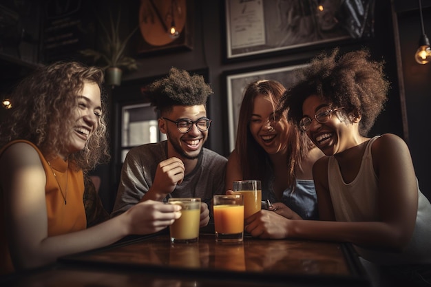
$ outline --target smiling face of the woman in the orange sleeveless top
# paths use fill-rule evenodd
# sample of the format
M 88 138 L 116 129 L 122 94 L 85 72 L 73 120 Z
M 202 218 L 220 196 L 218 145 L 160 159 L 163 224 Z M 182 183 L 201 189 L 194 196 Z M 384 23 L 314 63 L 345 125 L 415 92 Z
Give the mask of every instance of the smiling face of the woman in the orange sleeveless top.
M 69 133 L 67 153 L 84 149 L 87 140 L 98 127 L 101 113 L 101 89 L 96 83 L 84 83 L 82 92 L 76 96 L 76 109 L 72 113 L 74 125 Z

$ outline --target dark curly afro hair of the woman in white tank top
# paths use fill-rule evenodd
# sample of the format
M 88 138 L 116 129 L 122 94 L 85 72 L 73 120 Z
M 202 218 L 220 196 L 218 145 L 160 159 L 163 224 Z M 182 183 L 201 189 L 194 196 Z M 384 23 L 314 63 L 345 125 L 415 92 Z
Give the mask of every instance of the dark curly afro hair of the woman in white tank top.
M 383 73 L 384 62 L 369 60 L 367 50 L 339 55 L 335 48 L 327 56 L 319 54 L 311 64 L 299 70 L 299 81 L 280 100 L 280 111 L 297 125 L 302 118 L 302 103 L 311 95 L 320 96 L 334 107 L 344 107 L 340 114 L 350 122 L 361 116 L 359 133 L 366 136 L 388 100 L 390 83 Z

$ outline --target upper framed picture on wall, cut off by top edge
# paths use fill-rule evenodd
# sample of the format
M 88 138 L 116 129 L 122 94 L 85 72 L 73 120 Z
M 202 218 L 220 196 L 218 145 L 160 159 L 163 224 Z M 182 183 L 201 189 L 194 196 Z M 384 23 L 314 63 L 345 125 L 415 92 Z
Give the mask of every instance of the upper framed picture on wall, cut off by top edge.
M 226 58 L 348 41 L 373 34 L 375 0 L 224 0 Z

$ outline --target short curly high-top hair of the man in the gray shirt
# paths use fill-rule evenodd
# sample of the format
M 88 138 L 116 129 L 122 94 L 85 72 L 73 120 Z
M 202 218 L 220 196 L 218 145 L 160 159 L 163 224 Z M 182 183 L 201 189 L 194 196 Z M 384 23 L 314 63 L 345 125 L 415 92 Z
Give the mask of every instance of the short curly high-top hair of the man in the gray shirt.
M 191 76 L 185 70 L 172 67 L 168 76 L 149 84 L 144 92 L 151 100 L 151 105 L 159 111 L 171 111 L 176 105 L 205 105 L 208 96 L 213 94 L 204 77 Z

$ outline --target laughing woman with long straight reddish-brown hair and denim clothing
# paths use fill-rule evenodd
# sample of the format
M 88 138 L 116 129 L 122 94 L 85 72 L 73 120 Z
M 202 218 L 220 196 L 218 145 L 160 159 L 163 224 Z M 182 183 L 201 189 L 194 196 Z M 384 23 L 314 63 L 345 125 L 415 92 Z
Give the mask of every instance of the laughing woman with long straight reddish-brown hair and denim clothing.
M 235 149 L 229 156 L 226 189 L 234 180 L 261 180 L 262 200 L 291 219 L 317 219 L 313 163 L 323 156 L 311 141 L 275 112 L 286 91 L 273 80 L 250 83 L 244 89 Z

